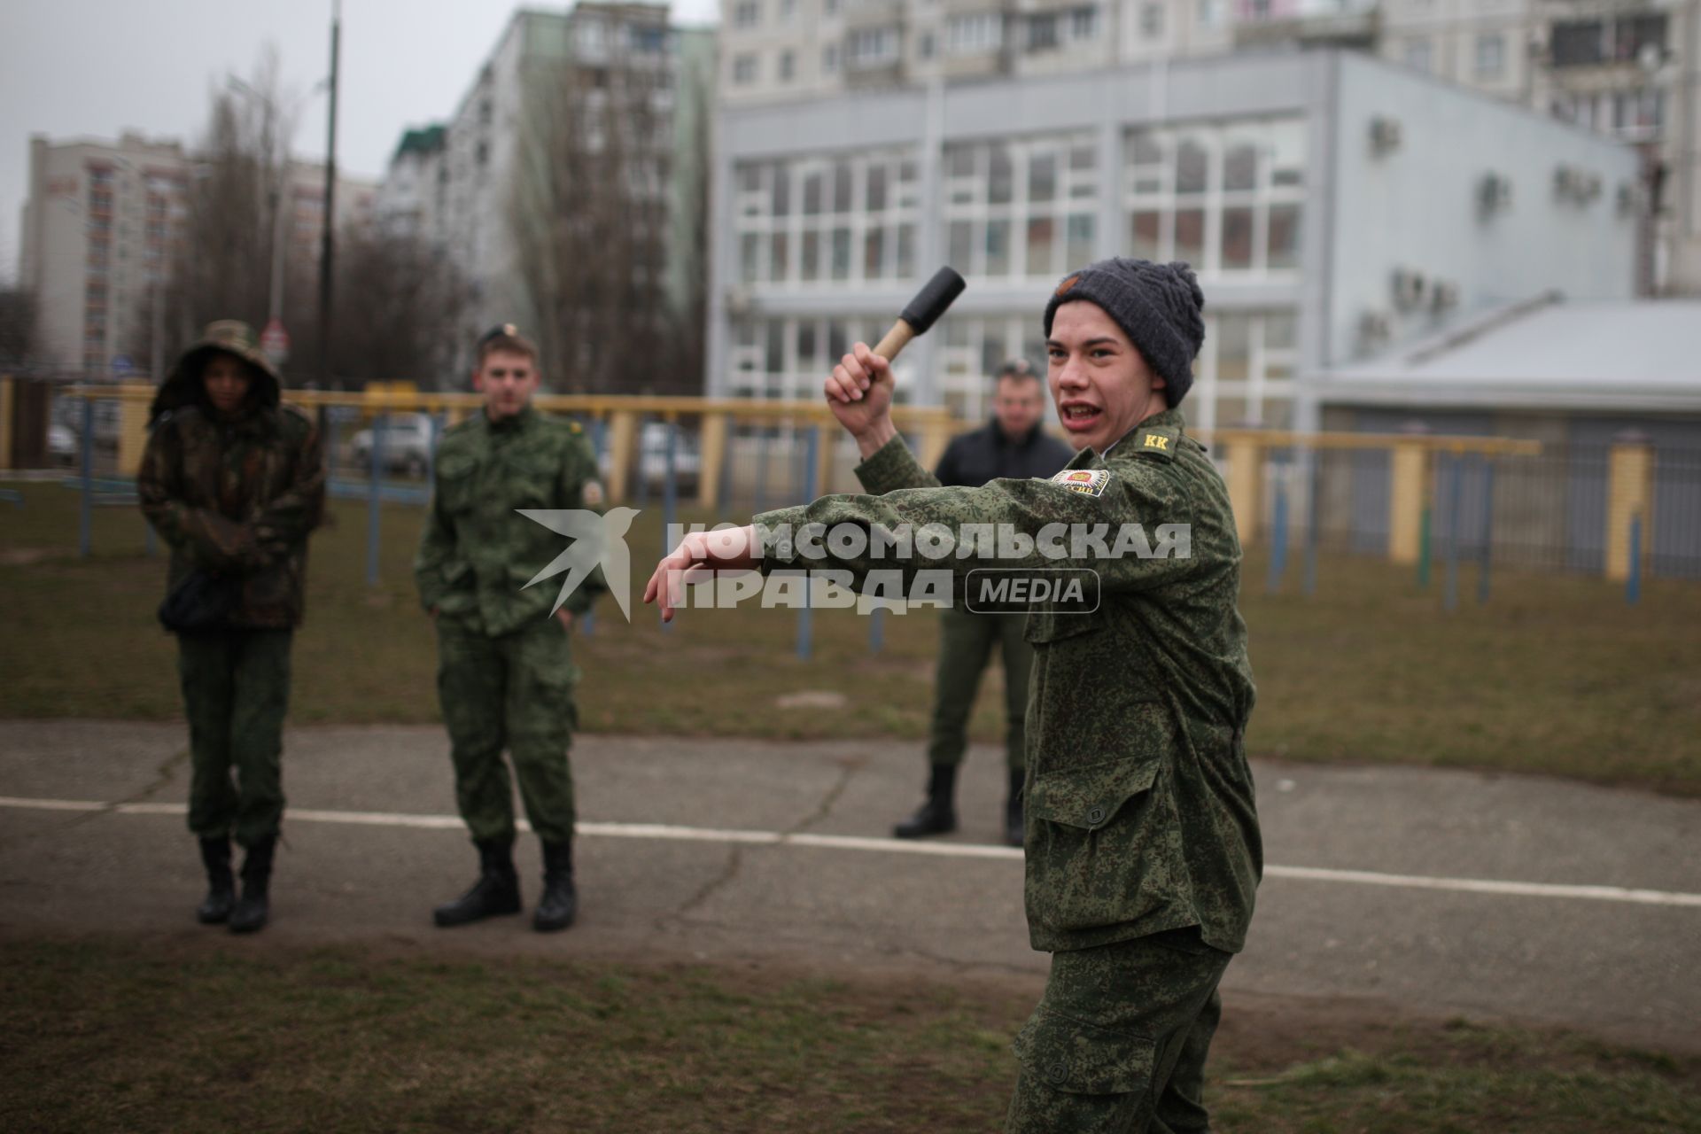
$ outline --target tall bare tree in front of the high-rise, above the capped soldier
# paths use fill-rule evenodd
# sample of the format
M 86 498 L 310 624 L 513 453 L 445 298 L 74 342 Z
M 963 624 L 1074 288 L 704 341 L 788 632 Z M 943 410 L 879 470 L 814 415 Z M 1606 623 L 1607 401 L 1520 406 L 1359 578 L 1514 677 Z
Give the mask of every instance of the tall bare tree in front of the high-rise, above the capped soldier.
M 672 330 L 663 279 L 672 131 L 655 99 L 665 75 L 561 61 L 522 77 L 507 223 L 551 388 L 653 389 L 675 364 L 655 352 Z

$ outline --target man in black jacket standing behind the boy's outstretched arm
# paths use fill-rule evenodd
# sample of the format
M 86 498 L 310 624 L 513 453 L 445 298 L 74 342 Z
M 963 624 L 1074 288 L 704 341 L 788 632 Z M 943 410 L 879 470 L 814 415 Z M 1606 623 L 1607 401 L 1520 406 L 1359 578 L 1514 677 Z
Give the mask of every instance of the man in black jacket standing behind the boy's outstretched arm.
M 998 369 L 993 418 L 951 440 L 939 459 L 941 485 L 980 488 L 1000 476 L 1046 478 L 1068 464 L 1075 451 L 1041 428 L 1046 394 L 1027 359 Z M 968 751 L 968 717 L 992 648 L 1004 658 L 1004 734 L 1009 796 L 1004 804 L 1004 840 L 1022 845 L 1022 751 L 1026 748 L 1027 675 L 1034 648 L 1022 641 L 1026 614 L 971 614 L 947 607 L 939 612 L 939 668 L 934 680 L 934 721 L 927 741 L 927 799 L 893 828 L 898 838 L 924 838 L 956 830 L 956 775 Z

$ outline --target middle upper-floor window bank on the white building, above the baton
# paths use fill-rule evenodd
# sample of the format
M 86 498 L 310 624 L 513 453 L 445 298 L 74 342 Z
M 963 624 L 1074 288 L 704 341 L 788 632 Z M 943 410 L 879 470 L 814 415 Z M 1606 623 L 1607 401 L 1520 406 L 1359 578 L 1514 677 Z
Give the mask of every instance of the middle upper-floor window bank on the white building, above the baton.
M 1056 279 L 1092 258 L 1097 194 L 1097 150 L 1085 134 L 947 146 L 951 267 L 978 279 Z

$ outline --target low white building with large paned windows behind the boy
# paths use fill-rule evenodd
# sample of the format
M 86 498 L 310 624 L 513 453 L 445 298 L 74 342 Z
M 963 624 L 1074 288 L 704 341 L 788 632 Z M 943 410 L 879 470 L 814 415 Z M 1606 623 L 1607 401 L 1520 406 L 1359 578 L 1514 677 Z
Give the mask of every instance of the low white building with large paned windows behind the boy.
M 978 418 L 1000 360 L 1043 366 L 1067 270 L 1191 262 L 1201 428 L 1315 428 L 1308 374 L 1548 289 L 1633 292 L 1635 153 L 1357 53 L 728 105 L 718 136 L 709 394 L 816 398 L 941 264 L 968 291 L 898 389 Z

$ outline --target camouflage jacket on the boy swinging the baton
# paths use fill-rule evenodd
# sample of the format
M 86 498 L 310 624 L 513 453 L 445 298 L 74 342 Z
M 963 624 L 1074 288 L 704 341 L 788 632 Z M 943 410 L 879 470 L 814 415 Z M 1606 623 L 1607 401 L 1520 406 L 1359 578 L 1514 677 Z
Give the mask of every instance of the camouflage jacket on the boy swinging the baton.
M 1123 524 L 1148 536 L 1160 524 L 1191 525 L 1187 558 L 1053 559 L 1036 551 L 993 561 L 1089 568 L 1102 587 L 1092 614 L 1034 609 L 1027 619 L 1027 927 L 1034 949 L 1048 952 L 1192 925 L 1208 945 L 1238 952 L 1262 876 L 1243 748 L 1254 685 L 1235 605 L 1240 541 L 1223 478 L 1186 435 L 1180 413 L 1146 418 L 1102 457 L 1077 452 L 1050 479 L 934 488 L 902 440 L 873 454 L 857 476 L 883 495 L 825 496 L 757 524 L 995 524 L 1029 537 L 1053 524 L 1109 525 L 1111 539 Z M 830 546 L 825 563 L 801 559 L 796 547 L 762 563 L 764 571 L 782 566 L 864 575 L 895 564 L 840 558 Z M 963 576 L 988 561 L 925 566 Z

